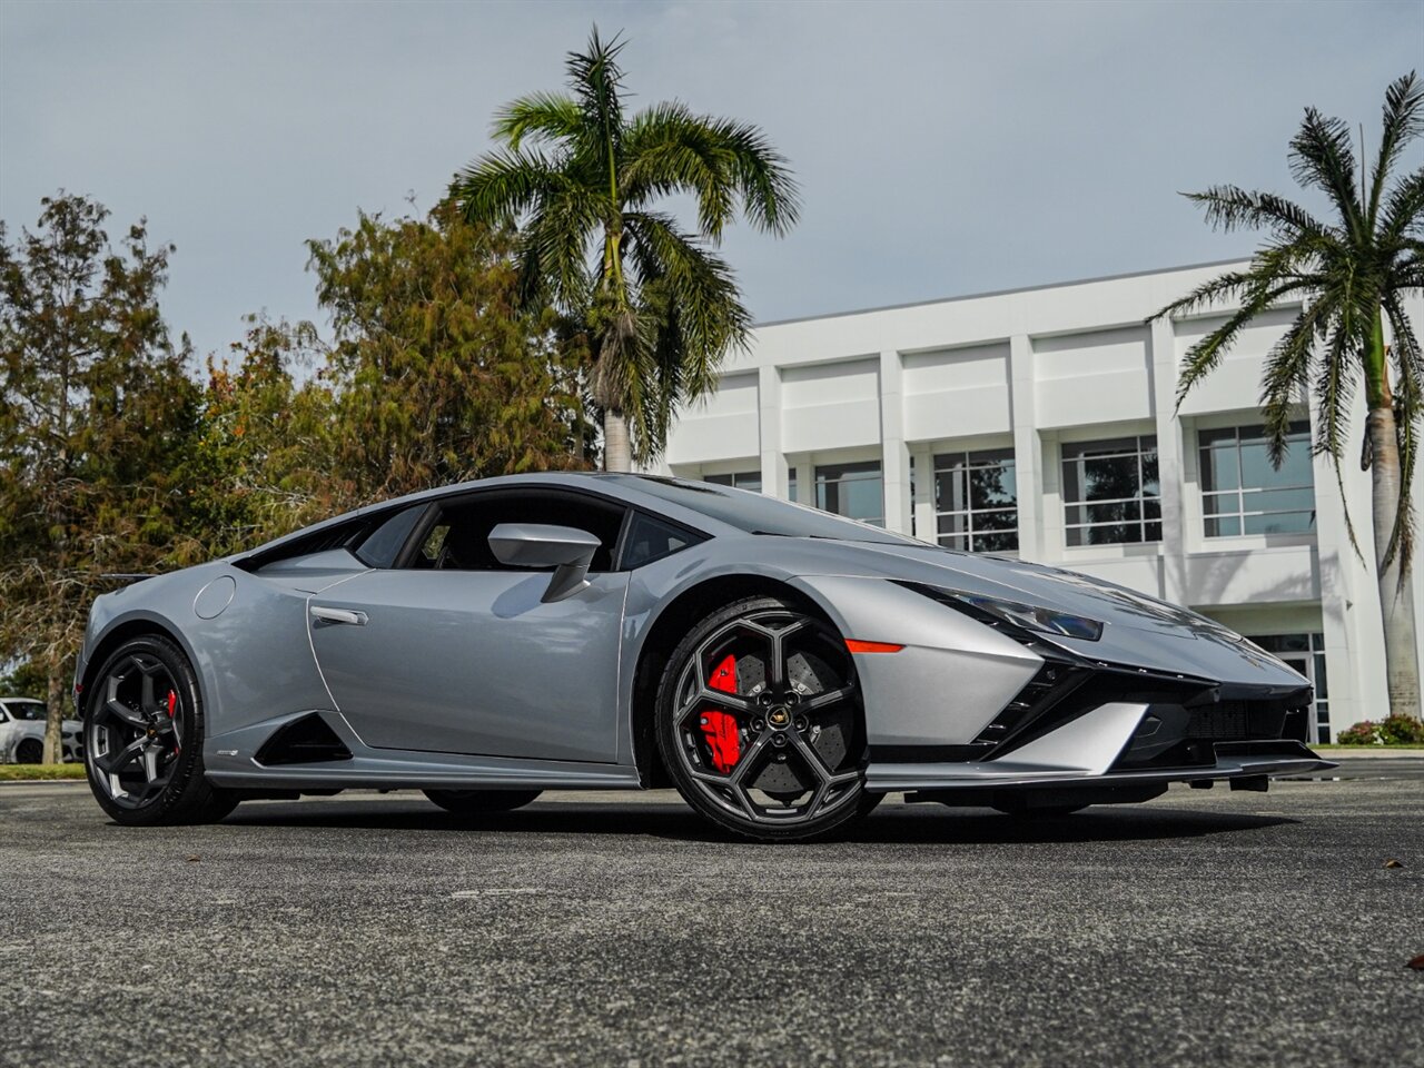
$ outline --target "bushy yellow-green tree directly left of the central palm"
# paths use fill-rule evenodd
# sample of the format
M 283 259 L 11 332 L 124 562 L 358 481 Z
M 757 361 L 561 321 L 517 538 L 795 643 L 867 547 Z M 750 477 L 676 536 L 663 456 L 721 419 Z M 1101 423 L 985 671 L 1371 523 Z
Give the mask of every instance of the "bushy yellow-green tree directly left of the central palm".
M 506 236 L 441 204 L 309 246 L 335 330 L 319 372 L 335 500 L 582 466 L 582 349 L 517 299 Z

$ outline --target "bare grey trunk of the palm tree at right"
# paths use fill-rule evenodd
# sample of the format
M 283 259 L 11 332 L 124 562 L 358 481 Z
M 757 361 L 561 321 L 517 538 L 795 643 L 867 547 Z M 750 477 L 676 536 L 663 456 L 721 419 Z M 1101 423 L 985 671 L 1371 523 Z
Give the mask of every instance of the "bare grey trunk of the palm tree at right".
M 1371 407 L 1366 420 L 1370 436 L 1371 511 L 1374 562 L 1380 580 L 1380 614 L 1384 621 L 1384 674 L 1390 715 L 1421 716 L 1418 652 L 1414 641 L 1414 584 L 1400 553 L 1386 564 L 1390 534 L 1400 507 L 1400 446 L 1393 406 Z

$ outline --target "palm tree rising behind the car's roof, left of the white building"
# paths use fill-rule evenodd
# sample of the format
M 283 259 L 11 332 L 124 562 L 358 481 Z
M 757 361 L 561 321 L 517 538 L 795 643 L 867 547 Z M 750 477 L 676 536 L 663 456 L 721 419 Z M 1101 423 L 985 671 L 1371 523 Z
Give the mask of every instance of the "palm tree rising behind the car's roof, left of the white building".
M 655 457 L 678 406 L 709 393 L 750 318 L 731 266 L 716 255 L 740 212 L 785 234 L 796 182 L 762 131 L 681 103 L 628 117 L 615 37 L 597 27 L 567 61 L 568 93 L 534 93 L 494 118 L 503 148 L 461 171 L 453 194 L 466 218 L 518 225 L 520 293 L 553 303 L 587 332 L 590 387 L 604 412 L 604 466 Z M 655 204 L 691 195 L 686 232 Z

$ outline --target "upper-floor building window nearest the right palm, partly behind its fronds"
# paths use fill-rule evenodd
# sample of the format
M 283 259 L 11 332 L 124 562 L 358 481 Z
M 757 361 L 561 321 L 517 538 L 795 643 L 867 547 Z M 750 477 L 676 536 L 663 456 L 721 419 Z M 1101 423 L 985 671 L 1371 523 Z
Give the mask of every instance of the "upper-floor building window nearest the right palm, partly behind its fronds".
M 1286 441 L 1290 451 L 1276 470 L 1270 466 L 1263 426 L 1198 434 L 1206 537 L 1306 534 L 1314 528 L 1310 424 L 1292 423 Z

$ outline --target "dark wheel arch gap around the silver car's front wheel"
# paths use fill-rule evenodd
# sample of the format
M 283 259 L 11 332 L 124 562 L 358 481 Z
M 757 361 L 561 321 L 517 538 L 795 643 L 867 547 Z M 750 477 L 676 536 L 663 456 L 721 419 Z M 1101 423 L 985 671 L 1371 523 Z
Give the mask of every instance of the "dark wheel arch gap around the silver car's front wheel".
M 634 669 L 632 708 L 629 709 L 632 753 L 638 768 L 638 780 L 644 787 L 656 789 L 672 785 L 658 753 L 658 742 L 654 735 L 658 682 L 662 679 L 668 656 L 699 619 L 748 597 L 780 598 L 836 627 L 830 612 L 815 597 L 805 590 L 797 590 L 786 580 L 772 575 L 745 572 L 718 575 L 702 580 L 674 597 L 649 624 L 648 635 L 638 649 L 638 664 Z

